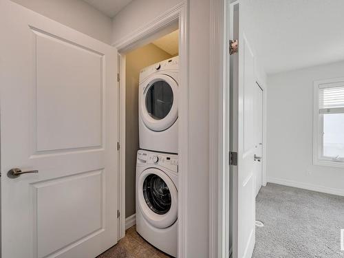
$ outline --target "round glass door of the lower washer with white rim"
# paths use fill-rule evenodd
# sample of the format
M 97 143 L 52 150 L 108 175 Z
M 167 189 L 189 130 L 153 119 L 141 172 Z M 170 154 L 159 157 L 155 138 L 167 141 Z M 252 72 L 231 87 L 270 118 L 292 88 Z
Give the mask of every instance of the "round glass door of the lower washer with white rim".
M 142 215 L 156 228 L 177 220 L 177 189 L 160 169 L 146 169 L 138 178 L 138 202 Z

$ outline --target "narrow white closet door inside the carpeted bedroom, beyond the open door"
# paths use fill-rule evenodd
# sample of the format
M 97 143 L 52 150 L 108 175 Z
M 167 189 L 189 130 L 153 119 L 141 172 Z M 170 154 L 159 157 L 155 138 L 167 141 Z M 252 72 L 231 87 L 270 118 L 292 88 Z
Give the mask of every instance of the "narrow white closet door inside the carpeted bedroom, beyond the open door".
M 256 195 L 261 189 L 263 155 L 263 90 L 255 83 L 255 175 Z

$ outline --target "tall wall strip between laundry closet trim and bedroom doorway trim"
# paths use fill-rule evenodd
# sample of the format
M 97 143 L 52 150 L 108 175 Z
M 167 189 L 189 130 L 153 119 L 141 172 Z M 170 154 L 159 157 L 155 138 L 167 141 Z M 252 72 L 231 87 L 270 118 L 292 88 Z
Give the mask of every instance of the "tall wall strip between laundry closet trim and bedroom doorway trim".
M 208 257 L 210 1 L 190 0 L 186 257 Z M 181 85 L 182 87 L 182 85 Z

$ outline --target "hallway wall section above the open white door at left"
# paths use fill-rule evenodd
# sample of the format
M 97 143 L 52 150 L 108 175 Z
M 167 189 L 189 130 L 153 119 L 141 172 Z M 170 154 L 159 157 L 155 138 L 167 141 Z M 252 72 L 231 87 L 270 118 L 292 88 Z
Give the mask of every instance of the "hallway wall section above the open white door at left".
M 94 39 L 111 43 L 112 21 L 81 0 L 12 0 L 52 20 L 83 32 Z

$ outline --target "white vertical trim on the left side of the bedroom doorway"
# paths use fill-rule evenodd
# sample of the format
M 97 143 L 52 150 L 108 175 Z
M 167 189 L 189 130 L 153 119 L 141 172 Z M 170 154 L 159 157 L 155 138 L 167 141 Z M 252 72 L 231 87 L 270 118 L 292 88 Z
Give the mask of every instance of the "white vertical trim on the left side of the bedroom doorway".
M 226 257 L 229 253 L 228 205 L 226 205 L 226 190 L 228 173 L 226 170 L 226 135 L 224 125 L 226 121 L 224 105 L 226 101 L 226 58 L 227 33 L 226 30 L 226 0 L 211 0 L 211 69 L 212 87 L 209 88 L 209 255 L 208 257 Z

